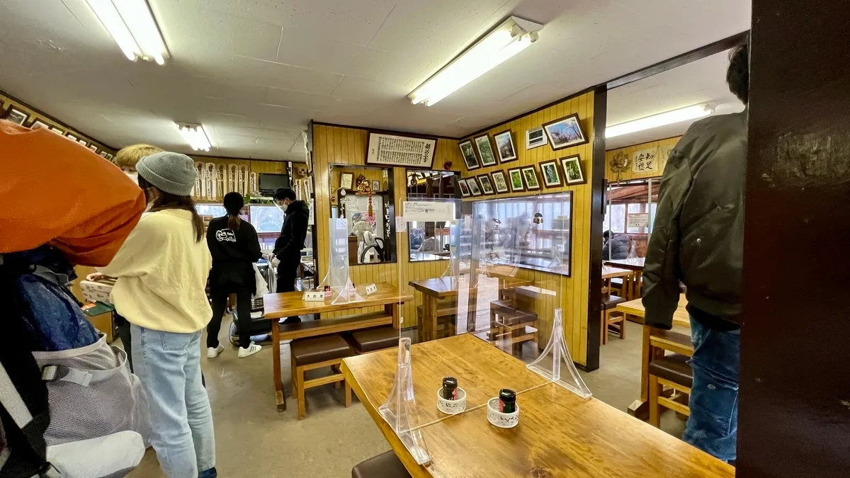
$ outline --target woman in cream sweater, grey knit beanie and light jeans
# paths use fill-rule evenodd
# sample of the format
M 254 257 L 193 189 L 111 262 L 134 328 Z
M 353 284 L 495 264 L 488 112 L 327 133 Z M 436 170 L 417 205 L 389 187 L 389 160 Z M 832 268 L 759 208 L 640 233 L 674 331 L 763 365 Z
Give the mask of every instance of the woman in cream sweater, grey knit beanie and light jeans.
M 214 478 L 212 412 L 201 384 L 212 259 L 190 196 L 195 165 L 159 152 L 136 169 L 149 212 L 99 272 L 118 279 L 111 301 L 132 324 L 133 368 L 150 397 L 150 442 L 160 466 L 171 478 Z

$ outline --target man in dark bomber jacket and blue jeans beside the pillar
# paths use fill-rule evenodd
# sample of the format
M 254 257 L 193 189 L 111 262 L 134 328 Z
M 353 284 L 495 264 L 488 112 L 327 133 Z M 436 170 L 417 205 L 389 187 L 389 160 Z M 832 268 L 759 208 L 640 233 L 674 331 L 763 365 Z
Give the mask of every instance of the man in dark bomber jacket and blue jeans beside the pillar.
M 745 105 L 747 47 L 726 74 Z M 734 462 L 738 430 L 747 111 L 695 122 L 670 153 L 643 270 L 646 324 L 670 329 L 688 287 L 694 372 L 683 440 Z

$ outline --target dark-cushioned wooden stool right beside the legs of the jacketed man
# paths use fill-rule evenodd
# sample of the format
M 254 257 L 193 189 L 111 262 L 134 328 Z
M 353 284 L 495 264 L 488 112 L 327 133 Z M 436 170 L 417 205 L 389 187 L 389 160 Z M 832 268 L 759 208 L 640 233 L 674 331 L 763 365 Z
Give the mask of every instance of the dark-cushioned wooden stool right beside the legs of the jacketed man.
M 661 407 L 690 416 L 690 408 L 679 403 L 679 397 L 662 395 L 666 385 L 680 394 L 690 395 L 694 373 L 688 365 L 689 356 L 671 354 L 649 362 L 649 424 L 660 427 Z

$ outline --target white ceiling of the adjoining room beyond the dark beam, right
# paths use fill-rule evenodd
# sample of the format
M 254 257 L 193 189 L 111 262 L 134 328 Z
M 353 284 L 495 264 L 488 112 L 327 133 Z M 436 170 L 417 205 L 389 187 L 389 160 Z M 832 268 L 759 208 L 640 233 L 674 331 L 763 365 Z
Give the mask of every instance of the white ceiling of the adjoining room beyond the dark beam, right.
M 728 51 L 712 54 L 672 70 L 629 83 L 608 92 L 608 125 L 649 117 L 685 106 L 711 104 L 714 114 L 742 111 L 744 104 L 729 92 L 726 69 Z M 605 139 L 605 149 L 613 150 L 655 139 L 684 134 L 696 120 L 676 122 Z

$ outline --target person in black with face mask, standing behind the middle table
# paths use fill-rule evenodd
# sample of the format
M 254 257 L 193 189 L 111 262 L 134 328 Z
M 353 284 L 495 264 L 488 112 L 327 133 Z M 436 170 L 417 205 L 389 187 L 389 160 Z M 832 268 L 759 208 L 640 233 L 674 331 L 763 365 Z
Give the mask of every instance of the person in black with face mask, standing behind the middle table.
M 295 290 L 298 266 L 301 265 L 301 249 L 307 237 L 310 208 L 306 202 L 296 201 L 295 191 L 287 188 L 278 188 L 273 199 L 275 205 L 284 212 L 280 237 L 275 241 L 275 257 L 280 261 L 275 292 L 292 292 Z M 283 323 L 293 322 L 301 322 L 301 318 L 288 317 Z

